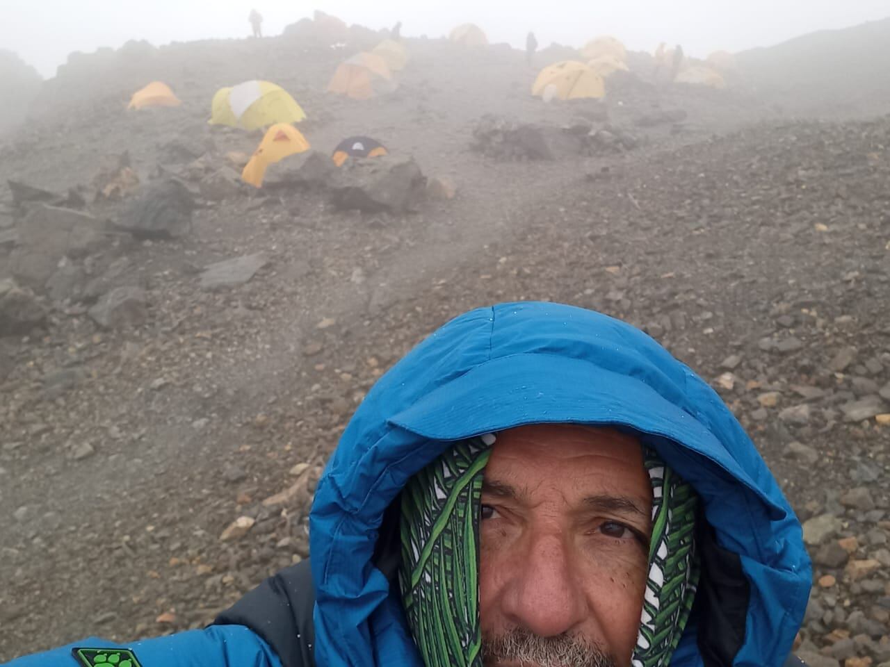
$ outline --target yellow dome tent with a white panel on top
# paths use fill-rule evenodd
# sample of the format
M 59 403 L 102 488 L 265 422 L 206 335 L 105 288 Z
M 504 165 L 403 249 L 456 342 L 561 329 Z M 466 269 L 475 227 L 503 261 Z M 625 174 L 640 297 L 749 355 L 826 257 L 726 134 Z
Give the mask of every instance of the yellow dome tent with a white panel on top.
M 276 123 L 299 123 L 303 108 L 287 91 L 268 81 L 245 81 L 214 94 L 210 125 L 256 130 Z

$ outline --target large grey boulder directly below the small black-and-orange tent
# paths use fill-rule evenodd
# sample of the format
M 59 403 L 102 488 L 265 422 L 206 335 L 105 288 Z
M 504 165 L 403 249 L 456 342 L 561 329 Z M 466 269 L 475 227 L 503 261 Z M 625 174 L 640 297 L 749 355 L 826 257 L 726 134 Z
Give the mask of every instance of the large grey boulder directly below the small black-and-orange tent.
M 348 160 L 333 192 L 338 208 L 366 213 L 405 213 L 423 197 L 424 174 L 409 157 Z

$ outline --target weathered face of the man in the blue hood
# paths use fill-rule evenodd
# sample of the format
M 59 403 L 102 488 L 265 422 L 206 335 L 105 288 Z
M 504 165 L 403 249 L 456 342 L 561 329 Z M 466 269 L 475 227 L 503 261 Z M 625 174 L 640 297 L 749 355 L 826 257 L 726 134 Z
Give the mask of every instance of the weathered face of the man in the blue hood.
M 651 503 L 635 438 L 576 425 L 499 433 L 481 499 L 486 665 L 628 665 Z

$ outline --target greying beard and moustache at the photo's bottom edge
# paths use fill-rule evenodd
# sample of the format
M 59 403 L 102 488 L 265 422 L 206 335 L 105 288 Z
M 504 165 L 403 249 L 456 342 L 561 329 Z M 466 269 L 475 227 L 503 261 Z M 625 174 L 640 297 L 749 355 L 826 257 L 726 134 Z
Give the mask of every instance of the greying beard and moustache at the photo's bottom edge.
M 565 634 L 538 637 L 518 628 L 500 637 L 482 638 L 482 662 L 523 667 L 615 667 L 615 659 L 596 643 Z

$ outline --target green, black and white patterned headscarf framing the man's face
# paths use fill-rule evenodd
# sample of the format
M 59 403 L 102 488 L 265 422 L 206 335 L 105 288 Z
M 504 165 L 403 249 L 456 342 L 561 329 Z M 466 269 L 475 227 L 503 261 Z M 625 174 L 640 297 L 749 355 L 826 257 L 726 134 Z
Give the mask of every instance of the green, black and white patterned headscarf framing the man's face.
M 409 628 L 426 667 L 482 667 L 479 517 L 492 435 L 458 442 L 401 494 L 399 571 Z M 644 448 L 652 483 L 652 536 L 633 667 L 663 667 L 683 634 L 699 581 L 696 495 Z

